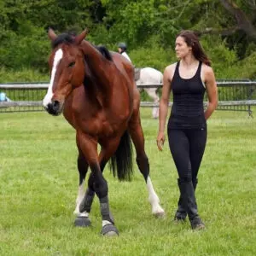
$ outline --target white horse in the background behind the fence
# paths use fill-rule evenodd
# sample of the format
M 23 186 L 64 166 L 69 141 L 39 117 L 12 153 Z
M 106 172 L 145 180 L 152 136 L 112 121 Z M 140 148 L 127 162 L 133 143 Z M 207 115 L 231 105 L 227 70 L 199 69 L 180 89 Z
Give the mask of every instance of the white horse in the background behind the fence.
M 163 82 L 163 74 L 153 67 L 136 68 L 135 79 L 137 84 L 161 84 Z M 143 90 L 154 100 L 154 103 L 159 103 L 160 98 L 156 93 L 157 88 L 143 88 Z M 152 109 L 152 117 L 154 119 L 159 117 L 158 107 Z

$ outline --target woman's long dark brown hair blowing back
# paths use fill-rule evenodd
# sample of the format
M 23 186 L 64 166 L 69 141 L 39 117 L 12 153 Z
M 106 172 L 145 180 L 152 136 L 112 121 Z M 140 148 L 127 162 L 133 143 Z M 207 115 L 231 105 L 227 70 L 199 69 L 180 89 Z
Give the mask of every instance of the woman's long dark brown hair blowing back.
M 202 49 L 201 44 L 199 43 L 199 39 L 196 36 L 195 32 L 190 30 L 183 30 L 177 34 L 177 37 L 184 38 L 186 44 L 192 47 L 192 53 L 195 56 L 195 59 L 197 59 L 198 61 L 202 61 L 207 66 L 211 67 L 211 61 L 206 55 L 204 49 Z

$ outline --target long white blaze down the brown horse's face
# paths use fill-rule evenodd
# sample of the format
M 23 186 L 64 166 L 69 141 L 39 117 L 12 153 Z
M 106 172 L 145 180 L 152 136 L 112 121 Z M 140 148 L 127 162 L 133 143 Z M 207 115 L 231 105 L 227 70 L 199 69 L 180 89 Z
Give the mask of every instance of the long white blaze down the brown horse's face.
M 52 67 L 52 70 L 51 70 L 51 77 L 50 77 L 50 81 L 49 81 L 49 87 L 48 87 L 48 90 L 47 90 L 47 94 L 46 94 L 46 96 L 44 96 L 44 101 L 43 101 L 44 108 L 47 108 L 48 104 L 51 103 L 51 99 L 52 99 L 52 96 L 53 96 L 52 88 L 53 88 L 53 84 L 54 84 L 54 80 L 55 80 L 55 73 L 56 73 L 56 70 L 57 70 L 57 66 L 60 63 L 62 57 L 63 57 L 63 50 L 58 49 L 55 52 L 55 57 L 54 57 L 54 61 L 53 61 L 53 67 Z

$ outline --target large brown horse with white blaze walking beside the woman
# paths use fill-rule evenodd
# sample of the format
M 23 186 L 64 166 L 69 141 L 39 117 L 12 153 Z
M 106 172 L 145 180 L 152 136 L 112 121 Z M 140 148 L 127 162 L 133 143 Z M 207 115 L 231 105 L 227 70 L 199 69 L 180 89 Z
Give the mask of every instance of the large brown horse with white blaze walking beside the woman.
M 49 114 L 57 116 L 63 113 L 76 131 L 79 193 L 74 225 L 90 226 L 89 214 L 96 194 L 102 214 L 101 234 L 118 236 L 119 231 L 109 210 L 108 183 L 102 172 L 109 162 L 114 177 L 131 180 L 131 142 L 136 149 L 138 169 L 146 182 L 152 213 L 162 217 L 165 212 L 149 177 L 134 68 L 122 55 L 110 52 L 104 46 L 90 44 L 85 39 L 87 33 L 85 29 L 77 36 L 68 33 L 57 36 L 49 29 L 51 74 L 43 105 Z M 99 154 L 98 145 L 101 147 Z

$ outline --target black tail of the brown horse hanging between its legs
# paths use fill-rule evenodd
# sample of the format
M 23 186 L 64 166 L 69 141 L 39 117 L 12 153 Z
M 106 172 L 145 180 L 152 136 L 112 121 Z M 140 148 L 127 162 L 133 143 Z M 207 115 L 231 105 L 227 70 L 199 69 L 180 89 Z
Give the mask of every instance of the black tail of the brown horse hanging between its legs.
M 125 131 L 120 139 L 119 147 L 109 162 L 113 177 L 117 176 L 119 180 L 131 180 L 132 170 L 132 144 L 128 131 Z

